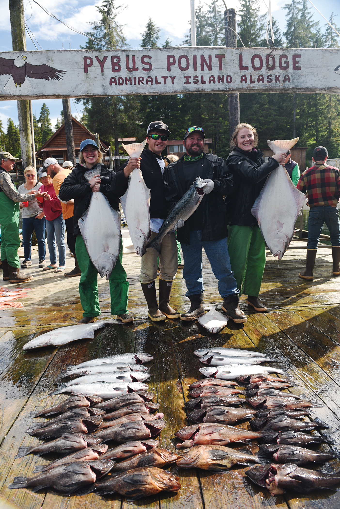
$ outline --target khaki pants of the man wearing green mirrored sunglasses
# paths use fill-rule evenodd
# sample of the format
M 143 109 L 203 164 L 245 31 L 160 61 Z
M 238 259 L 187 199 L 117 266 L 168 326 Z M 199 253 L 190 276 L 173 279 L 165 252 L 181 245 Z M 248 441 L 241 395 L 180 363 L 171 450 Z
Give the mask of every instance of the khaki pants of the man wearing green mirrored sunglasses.
M 152 232 L 150 241 L 158 234 Z M 142 256 L 142 266 L 140 273 L 141 283 L 149 283 L 157 278 L 157 258 L 158 252 L 149 247 L 144 256 Z M 177 243 L 174 233 L 166 235 L 162 242 L 162 252 L 160 258 L 160 279 L 172 281 L 175 278 L 178 269 Z

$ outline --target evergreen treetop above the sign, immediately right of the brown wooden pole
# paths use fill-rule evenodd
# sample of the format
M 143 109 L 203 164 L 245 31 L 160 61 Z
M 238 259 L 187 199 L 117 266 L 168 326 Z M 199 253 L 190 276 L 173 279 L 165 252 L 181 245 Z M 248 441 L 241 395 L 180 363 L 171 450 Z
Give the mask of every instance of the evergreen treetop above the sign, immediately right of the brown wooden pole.
M 238 32 L 246 47 L 259 46 L 261 36 L 265 31 L 265 16 L 260 16 L 258 12 L 259 0 L 241 0 L 241 7 L 238 12 L 240 16 L 238 21 Z M 242 46 L 239 39 L 238 46 Z

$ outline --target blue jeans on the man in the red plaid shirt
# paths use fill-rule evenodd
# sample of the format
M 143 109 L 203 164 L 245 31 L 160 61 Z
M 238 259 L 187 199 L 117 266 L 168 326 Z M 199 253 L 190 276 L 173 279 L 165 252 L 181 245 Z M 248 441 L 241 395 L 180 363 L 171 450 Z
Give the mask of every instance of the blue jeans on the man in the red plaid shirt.
M 339 211 L 336 207 L 310 207 L 308 216 L 307 249 L 317 249 L 324 222 L 329 230 L 332 246 L 340 246 Z

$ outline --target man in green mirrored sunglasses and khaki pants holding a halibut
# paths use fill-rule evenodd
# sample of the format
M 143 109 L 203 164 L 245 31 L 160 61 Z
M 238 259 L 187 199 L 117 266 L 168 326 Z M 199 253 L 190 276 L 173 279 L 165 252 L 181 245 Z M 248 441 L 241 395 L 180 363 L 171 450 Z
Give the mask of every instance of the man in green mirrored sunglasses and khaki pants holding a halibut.
M 148 149 L 143 151 L 140 158 L 130 157 L 128 162 L 119 168 L 111 184 L 112 191 L 122 196 L 127 189 L 129 175 L 135 168 L 141 169 L 145 185 L 150 189 L 150 240 L 156 237 L 168 214 L 164 198 L 164 176 L 169 160 L 162 157 L 162 152 L 167 145 L 169 134 L 168 126 L 164 122 L 151 122 L 146 132 Z M 180 317 L 180 314 L 169 305 L 172 281 L 178 269 L 174 233 L 164 238 L 162 253 L 159 257 L 159 304 L 154 282 L 157 278 L 157 258 L 158 253 L 148 248 L 142 257 L 140 272 L 140 282 L 148 305 L 148 317 L 153 322 Z

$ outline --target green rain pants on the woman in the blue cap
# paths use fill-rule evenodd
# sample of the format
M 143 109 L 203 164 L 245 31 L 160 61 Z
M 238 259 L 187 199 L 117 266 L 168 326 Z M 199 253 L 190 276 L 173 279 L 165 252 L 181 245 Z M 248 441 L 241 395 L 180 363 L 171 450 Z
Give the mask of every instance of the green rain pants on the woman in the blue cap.
M 83 317 L 100 316 L 98 299 L 98 272 L 92 264 L 83 237 L 77 235 L 75 239 L 75 254 L 82 275 L 79 282 L 79 294 L 84 309 Z M 123 315 L 127 312 L 128 281 L 122 266 L 123 242 L 120 239 L 120 253 L 116 266 L 109 278 L 111 296 L 111 315 Z

